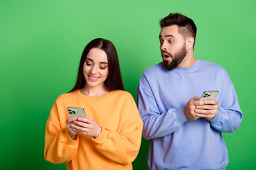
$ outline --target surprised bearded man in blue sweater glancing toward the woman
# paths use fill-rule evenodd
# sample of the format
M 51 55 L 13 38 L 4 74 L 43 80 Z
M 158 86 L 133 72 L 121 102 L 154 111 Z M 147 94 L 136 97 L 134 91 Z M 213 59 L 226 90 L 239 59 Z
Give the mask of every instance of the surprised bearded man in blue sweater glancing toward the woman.
M 138 108 L 149 140 L 149 169 L 225 169 L 222 132 L 238 129 L 242 112 L 228 73 L 193 55 L 196 25 L 179 13 L 161 19 L 163 62 L 139 81 Z M 219 91 L 200 101 L 203 91 Z

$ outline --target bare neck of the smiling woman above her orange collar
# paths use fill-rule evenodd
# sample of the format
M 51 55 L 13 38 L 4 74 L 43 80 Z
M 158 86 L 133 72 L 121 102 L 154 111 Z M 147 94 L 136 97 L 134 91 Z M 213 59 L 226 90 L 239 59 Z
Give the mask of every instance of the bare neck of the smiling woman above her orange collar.
M 85 96 L 103 96 L 105 94 L 110 93 L 110 90 L 107 89 L 105 84 L 103 86 L 94 87 L 87 86 L 87 84 L 85 84 L 85 86 L 83 86 L 82 89 L 80 89 L 80 92 Z

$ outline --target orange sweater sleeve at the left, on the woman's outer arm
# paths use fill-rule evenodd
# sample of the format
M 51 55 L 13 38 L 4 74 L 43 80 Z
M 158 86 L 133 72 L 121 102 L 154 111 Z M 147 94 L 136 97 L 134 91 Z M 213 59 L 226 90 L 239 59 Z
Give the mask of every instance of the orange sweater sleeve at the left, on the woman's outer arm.
M 55 102 L 46 123 L 45 159 L 53 164 L 70 162 L 77 152 L 78 143 L 79 137 L 77 140 L 72 140 L 68 129 L 60 127 L 58 107 Z

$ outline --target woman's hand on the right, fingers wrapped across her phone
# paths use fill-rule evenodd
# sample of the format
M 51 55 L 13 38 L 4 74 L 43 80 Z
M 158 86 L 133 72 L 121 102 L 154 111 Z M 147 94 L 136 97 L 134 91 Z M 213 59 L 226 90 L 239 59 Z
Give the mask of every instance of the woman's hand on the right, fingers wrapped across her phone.
M 101 128 L 95 123 L 95 120 L 89 116 L 86 116 L 86 118 L 78 118 L 78 120 L 75 120 L 71 126 L 75 130 L 78 130 L 78 132 L 82 132 L 85 135 L 95 138 L 98 137 L 101 132 Z

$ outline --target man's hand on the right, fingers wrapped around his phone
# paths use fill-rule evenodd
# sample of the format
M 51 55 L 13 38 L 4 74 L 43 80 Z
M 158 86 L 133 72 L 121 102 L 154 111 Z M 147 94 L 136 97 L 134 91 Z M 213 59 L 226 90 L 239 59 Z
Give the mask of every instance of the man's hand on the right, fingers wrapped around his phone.
M 218 113 L 218 101 L 203 101 L 203 104 L 196 106 L 196 117 L 213 120 Z

